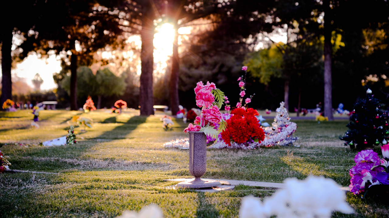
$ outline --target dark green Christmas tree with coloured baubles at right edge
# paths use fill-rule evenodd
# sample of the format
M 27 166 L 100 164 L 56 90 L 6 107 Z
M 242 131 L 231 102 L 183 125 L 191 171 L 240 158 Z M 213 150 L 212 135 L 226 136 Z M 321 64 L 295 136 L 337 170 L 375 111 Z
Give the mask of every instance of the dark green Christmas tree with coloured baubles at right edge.
M 349 130 L 340 140 L 350 148 L 363 150 L 366 147 L 387 144 L 389 140 L 388 113 L 382 111 L 383 104 L 374 97 L 370 89 L 366 91 L 366 97 L 354 104 L 351 112 Z

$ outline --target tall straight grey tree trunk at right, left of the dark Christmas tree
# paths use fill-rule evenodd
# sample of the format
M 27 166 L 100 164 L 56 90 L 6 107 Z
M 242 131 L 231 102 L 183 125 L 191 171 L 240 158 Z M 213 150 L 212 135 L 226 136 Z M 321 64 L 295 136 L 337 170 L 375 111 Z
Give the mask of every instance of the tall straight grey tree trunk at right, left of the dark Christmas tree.
M 332 28 L 329 0 L 324 0 L 324 116 L 334 120 L 332 115 Z

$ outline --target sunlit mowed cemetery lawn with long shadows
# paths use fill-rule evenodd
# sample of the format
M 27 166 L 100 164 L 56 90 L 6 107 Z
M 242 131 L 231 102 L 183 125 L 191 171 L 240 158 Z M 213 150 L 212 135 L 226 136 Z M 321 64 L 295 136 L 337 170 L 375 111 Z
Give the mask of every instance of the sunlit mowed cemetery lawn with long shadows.
M 242 197 L 266 198 L 276 189 L 238 185 L 233 191 L 199 193 L 161 189 L 191 178 L 188 151 L 166 149 L 164 142 L 187 137 L 187 124 L 173 119 L 164 130 L 155 116 L 139 111 L 88 114 L 77 111 L 41 111 L 40 128 L 32 128 L 30 111 L 0 112 L 0 149 L 11 156 L 11 169 L 55 174 L 5 173 L 0 175 L 0 214 L 3 217 L 115 217 L 123 210 L 139 210 L 154 203 L 165 217 L 237 217 Z M 77 144 L 43 147 L 39 142 L 67 134 L 72 116 L 93 119 L 93 128 L 75 128 Z M 292 119 L 293 120 L 293 119 Z M 272 120 L 267 120 L 269 123 Z M 211 149 L 207 152 L 205 178 L 283 182 L 308 175 L 349 185 L 348 170 L 356 151 L 342 145 L 339 136 L 347 121 L 295 120 L 300 137 L 294 145 L 255 150 Z M 28 145 L 27 146 L 21 146 Z M 325 187 L 323 187 L 325 189 Z M 387 204 L 363 201 L 347 194 L 355 214 L 333 217 L 387 217 Z

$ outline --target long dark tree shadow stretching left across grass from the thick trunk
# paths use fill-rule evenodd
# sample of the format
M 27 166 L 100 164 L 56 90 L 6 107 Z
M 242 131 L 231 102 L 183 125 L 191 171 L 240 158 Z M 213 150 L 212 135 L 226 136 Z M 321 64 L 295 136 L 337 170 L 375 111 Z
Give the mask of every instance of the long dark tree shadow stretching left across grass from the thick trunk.
M 147 116 L 133 116 L 128 119 L 127 122 L 122 123 L 119 122 L 120 125 L 116 126 L 113 130 L 105 131 L 100 136 L 95 139 L 123 139 L 131 133 L 131 131 L 135 130 L 140 124 L 145 123 Z M 116 121 L 115 117 L 110 117 L 105 119 L 102 123 L 111 123 L 111 121 Z M 117 122 L 115 122 L 117 123 Z

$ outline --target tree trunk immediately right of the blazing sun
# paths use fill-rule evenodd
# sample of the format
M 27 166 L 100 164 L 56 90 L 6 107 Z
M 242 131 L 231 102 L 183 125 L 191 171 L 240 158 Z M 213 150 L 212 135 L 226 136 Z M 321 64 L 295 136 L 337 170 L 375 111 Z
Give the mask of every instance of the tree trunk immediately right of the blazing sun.
M 176 22 L 177 23 L 177 22 Z M 174 41 L 173 41 L 173 57 L 172 57 L 172 73 L 170 74 L 170 105 L 172 107 L 172 115 L 179 111 L 178 97 L 178 80 L 180 71 L 180 59 L 178 56 L 178 26 L 174 25 Z

